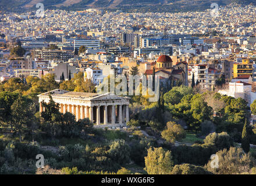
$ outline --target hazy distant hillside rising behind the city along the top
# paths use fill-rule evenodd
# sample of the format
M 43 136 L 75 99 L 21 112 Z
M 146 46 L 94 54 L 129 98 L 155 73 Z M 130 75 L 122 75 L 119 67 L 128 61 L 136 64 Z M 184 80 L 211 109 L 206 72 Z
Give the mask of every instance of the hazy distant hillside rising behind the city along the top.
M 8 0 L 0 1 L 0 11 L 25 12 L 36 10 L 41 2 L 46 9 L 83 10 L 101 8 L 126 12 L 180 12 L 188 10 L 209 9 L 211 3 L 228 5 L 236 2 L 244 5 L 256 5 L 255 0 Z

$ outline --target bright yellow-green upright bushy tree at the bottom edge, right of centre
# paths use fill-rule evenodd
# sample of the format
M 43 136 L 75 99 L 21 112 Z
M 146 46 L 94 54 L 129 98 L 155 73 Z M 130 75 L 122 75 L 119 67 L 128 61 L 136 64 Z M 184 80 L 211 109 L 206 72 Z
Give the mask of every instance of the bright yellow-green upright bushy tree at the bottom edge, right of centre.
M 148 174 L 170 174 L 173 168 L 172 153 L 160 148 L 149 148 L 145 157 L 145 171 Z

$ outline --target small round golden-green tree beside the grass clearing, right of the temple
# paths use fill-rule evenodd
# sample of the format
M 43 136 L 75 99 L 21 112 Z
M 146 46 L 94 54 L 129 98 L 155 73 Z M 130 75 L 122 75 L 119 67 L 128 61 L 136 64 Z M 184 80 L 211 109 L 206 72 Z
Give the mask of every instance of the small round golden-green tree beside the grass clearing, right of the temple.
M 176 140 L 180 141 L 186 138 L 186 131 L 180 124 L 169 121 L 166 123 L 166 129 L 162 131 L 161 135 L 166 141 L 174 143 Z

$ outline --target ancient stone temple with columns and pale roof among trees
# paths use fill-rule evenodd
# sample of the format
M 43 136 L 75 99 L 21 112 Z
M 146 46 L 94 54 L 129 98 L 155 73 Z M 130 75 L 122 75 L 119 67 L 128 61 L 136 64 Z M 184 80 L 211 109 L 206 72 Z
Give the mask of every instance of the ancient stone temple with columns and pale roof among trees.
M 41 102 L 48 103 L 49 94 L 55 103 L 59 103 L 61 113 L 70 112 L 77 121 L 86 117 L 97 125 L 126 124 L 129 121 L 129 97 L 56 89 L 38 95 L 40 112 L 44 110 Z

